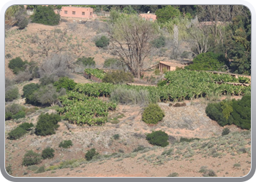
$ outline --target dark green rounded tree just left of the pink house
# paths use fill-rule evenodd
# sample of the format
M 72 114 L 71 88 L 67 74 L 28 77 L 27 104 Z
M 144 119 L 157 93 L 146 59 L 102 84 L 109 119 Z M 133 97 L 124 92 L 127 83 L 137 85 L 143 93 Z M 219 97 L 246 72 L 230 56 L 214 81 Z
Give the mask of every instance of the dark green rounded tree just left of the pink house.
M 52 7 L 38 6 L 32 16 L 32 22 L 44 25 L 58 25 L 60 15 L 56 14 Z

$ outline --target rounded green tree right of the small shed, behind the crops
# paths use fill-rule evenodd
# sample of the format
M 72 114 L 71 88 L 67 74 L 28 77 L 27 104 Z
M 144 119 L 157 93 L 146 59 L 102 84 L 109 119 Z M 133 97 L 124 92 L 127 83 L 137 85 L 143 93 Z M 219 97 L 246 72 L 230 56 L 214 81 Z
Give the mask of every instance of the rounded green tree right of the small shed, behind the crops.
M 206 52 L 197 55 L 193 59 L 193 63 L 185 66 L 185 68 L 189 70 L 221 71 L 226 64 L 227 59 L 225 59 L 224 55 Z

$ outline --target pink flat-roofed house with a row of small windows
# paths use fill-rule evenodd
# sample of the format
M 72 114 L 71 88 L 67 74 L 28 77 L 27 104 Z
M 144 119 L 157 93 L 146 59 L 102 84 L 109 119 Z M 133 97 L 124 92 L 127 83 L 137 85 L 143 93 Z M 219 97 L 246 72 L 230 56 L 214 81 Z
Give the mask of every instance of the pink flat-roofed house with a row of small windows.
M 61 7 L 61 17 L 92 18 L 94 9 L 91 7 Z

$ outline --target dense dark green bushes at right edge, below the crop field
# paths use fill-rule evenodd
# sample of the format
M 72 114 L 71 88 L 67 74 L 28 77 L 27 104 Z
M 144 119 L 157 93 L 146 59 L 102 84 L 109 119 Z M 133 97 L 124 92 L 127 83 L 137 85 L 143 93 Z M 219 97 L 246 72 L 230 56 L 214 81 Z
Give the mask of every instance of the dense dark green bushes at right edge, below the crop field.
M 222 127 L 235 124 L 242 129 L 249 130 L 251 128 L 251 95 L 244 95 L 241 100 L 208 103 L 206 114 Z

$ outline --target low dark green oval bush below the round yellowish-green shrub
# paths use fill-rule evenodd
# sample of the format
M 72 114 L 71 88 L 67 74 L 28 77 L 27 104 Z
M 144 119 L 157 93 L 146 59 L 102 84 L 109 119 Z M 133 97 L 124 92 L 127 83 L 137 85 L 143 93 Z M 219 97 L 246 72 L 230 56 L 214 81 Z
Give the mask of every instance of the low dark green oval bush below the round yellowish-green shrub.
M 148 135 L 146 135 L 146 140 L 155 146 L 165 147 L 169 144 L 167 142 L 168 140 L 167 133 L 161 130 L 149 133 Z

